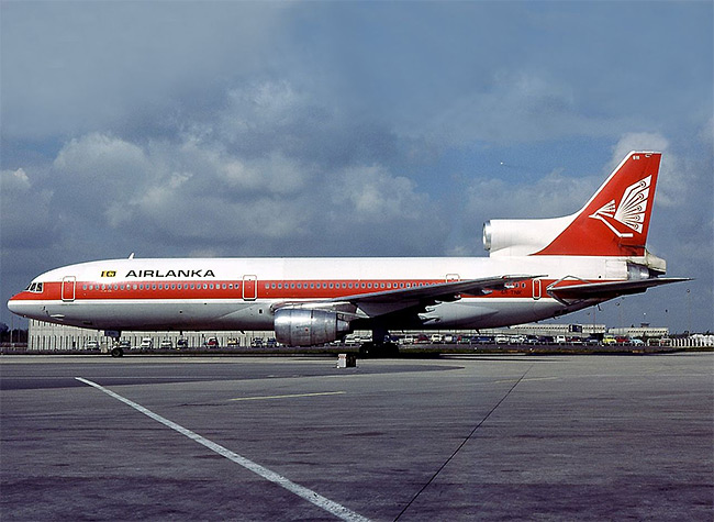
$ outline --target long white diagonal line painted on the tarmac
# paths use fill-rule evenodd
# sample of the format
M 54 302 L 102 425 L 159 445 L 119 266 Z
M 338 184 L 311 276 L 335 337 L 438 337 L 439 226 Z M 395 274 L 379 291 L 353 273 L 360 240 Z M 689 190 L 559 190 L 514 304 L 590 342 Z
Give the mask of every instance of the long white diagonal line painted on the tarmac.
M 297 495 L 298 497 L 306 500 L 308 502 L 311 502 L 315 504 L 316 507 L 327 511 L 328 513 L 337 517 L 338 519 L 342 520 L 347 520 L 347 521 L 369 521 L 369 519 L 362 517 L 359 513 L 355 513 L 354 511 L 345 508 L 342 504 L 338 504 L 337 502 L 334 502 L 322 495 L 317 495 L 311 489 L 305 488 L 304 486 L 300 486 L 299 484 L 295 484 L 286 477 L 278 475 L 275 471 L 271 471 L 270 469 L 260 466 L 259 464 L 254 463 L 253 460 L 249 460 L 237 453 L 232 452 L 231 449 L 227 449 L 220 444 L 216 444 L 212 441 L 209 441 L 208 438 L 199 435 L 198 433 L 192 432 L 191 430 L 188 430 L 176 422 L 169 421 L 168 419 L 163 418 L 161 415 L 154 413 L 153 411 L 144 408 L 142 404 L 138 404 L 137 402 L 134 402 L 132 400 L 129 400 L 119 393 L 113 392 L 112 390 L 104 388 L 101 385 L 98 385 L 97 382 L 92 382 L 91 380 L 83 379 L 81 377 L 75 377 L 80 382 L 83 382 L 88 386 L 91 386 L 93 388 L 97 388 L 100 391 L 103 391 L 110 397 L 113 397 L 114 399 L 123 402 L 124 404 L 131 406 L 134 408 L 136 411 L 140 411 L 144 413 L 146 417 L 149 417 L 150 419 L 154 419 L 155 421 L 164 424 L 167 427 L 170 427 L 174 431 L 179 432 L 181 435 L 185 435 L 192 441 L 198 442 L 199 444 L 208 447 L 212 452 L 217 453 L 219 455 L 227 458 L 228 460 L 233 460 L 234 463 L 238 464 L 239 466 L 243 466 L 249 471 L 253 471 L 254 474 L 265 478 L 266 480 L 269 480 L 274 484 L 277 484 L 278 486 L 281 486 L 282 488 L 287 489 L 291 493 Z

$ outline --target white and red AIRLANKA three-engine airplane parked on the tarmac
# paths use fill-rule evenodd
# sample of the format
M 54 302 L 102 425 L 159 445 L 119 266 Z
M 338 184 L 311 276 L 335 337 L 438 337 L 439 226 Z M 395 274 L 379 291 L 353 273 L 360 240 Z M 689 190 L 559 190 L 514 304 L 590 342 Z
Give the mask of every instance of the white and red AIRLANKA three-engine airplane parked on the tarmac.
M 555 318 L 665 278 L 646 247 L 661 153 L 631 152 L 576 213 L 491 220 L 488 257 L 135 258 L 49 270 L 8 301 L 40 321 L 121 331 L 275 331 L 312 346 L 371 330 L 478 330 Z M 115 345 L 112 355 L 122 355 Z

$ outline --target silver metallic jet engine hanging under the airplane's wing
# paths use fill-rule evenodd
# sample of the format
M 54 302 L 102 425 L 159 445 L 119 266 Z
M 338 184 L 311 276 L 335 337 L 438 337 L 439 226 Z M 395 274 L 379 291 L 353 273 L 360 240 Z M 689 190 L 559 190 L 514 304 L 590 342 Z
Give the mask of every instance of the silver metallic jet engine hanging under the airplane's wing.
M 331 343 L 350 331 L 347 315 L 339 312 L 302 308 L 276 311 L 276 341 L 289 346 Z

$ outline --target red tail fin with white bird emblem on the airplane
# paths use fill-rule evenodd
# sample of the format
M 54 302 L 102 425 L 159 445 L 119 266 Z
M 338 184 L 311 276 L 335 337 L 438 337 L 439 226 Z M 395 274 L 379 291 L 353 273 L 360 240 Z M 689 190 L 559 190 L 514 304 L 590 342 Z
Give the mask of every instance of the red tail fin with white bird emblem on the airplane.
M 644 255 L 660 158 L 661 153 L 629 153 L 574 220 L 535 255 Z

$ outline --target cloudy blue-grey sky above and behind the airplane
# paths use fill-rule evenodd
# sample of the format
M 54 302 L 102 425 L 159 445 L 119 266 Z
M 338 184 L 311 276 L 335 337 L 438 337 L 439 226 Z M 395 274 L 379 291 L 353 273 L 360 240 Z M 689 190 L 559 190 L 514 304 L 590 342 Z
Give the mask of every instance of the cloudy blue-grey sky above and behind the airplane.
M 573 212 L 642 147 L 649 249 L 696 280 L 596 321 L 713 329 L 712 2 L 0 10 L 3 302 L 132 252 L 483 256 L 483 221 Z

